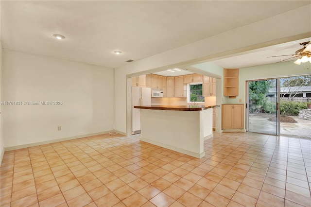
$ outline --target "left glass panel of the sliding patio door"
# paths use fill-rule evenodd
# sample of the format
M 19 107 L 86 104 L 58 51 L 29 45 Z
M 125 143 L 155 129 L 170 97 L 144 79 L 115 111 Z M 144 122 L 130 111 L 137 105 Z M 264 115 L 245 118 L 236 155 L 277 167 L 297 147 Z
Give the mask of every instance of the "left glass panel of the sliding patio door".
M 246 131 L 279 135 L 279 79 L 246 82 Z

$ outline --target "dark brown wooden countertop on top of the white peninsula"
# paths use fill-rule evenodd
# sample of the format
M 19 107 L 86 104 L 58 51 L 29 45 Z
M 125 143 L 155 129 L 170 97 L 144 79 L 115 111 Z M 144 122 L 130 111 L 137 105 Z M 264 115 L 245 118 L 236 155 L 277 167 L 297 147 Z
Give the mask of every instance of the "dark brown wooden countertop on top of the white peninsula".
M 219 105 L 135 105 L 134 108 L 154 109 L 154 110 L 170 110 L 170 111 L 202 111 L 208 108 L 216 108 Z

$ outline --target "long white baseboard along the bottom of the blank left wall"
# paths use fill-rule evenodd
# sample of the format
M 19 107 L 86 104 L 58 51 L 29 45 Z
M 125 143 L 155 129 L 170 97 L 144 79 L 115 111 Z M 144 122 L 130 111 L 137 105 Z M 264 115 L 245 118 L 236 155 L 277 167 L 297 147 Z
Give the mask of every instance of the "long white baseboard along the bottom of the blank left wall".
M 18 150 L 18 149 L 22 149 L 22 148 L 34 147 L 34 146 L 43 145 L 43 144 L 51 144 L 54 142 L 67 141 L 67 140 L 76 139 L 76 138 L 86 138 L 86 137 L 91 137 L 91 136 L 96 136 L 96 135 L 107 134 L 107 133 L 111 133 L 111 132 L 115 132 L 115 130 L 97 132 L 97 133 L 86 134 L 86 135 L 79 135 L 79 136 L 74 136 L 74 137 L 69 137 L 69 138 L 52 139 L 52 140 L 48 140 L 48 141 L 35 142 L 35 143 L 17 145 L 17 146 L 12 146 L 12 147 L 5 147 L 4 151 Z M 121 134 L 121 133 L 119 133 L 119 134 Z M 2 155 L 1 155 L 1 160 L 2 160 Z

